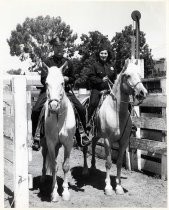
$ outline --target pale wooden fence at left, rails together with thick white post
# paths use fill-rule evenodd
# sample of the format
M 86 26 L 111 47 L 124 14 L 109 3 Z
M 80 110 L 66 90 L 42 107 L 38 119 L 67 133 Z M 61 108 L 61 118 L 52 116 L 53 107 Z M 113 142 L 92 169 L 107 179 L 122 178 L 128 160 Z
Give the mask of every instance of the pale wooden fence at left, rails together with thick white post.
M 4 82 L 4 136 L 12 141 L 12 153 L 5 151 L 4 161 L 11 163 L 14 186 L 14 207 L 29 206 L 28 160 L 31 161 L 31 92 L 24 76 Z M 5 147 L 8 149 L 8 146 Z M 11 149 L 11 148 L 10 148 Z M 8 154 L 13 154 L 11 157 Z M 9 171 L 8 171 L 9 172 Z

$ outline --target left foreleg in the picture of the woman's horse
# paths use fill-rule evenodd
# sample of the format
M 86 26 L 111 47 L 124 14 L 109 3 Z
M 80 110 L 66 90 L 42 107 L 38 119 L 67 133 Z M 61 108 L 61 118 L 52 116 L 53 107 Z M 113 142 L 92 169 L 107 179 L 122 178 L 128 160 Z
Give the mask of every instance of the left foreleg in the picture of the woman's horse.
M 105 179 L 105 194 L 106 195 L 112 195 L 113 188 L 111 186 L 111 180 L 110 180 L 110 169 L 112 166 L 112 160 L 111 160 L 111 147 L 109 144 L 108 139 L 104 139 L 104 147 L 105 147 L 105 155 L 106 155 L 106 179 Z

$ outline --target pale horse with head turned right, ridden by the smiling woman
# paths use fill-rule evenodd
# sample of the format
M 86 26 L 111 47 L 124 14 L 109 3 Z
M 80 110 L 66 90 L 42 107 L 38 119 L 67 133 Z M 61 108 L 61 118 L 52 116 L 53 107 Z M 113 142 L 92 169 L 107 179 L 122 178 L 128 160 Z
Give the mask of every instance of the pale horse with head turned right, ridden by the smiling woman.
M 106 155 L 106 179 L 105 194 L 111 195 L 113 190 L 110 181 L 110 169 L 112 166 L 111 147 L 114 142 L 119 143 L 117 159 L 116 193 L 123 194 L 121 186 L 121 168 L 124 152 L 129 144 L 132 122 L 128 111 L 130 95 L 138 97 L 142 101 L 147 96 L 138 72 L 139 66 L 134 62 L 126 61 L 122 72 L 117 76 L 111 93 L 106 96 L 99 111 L 96 113 L 96 132 L 92 140 L 91 168 L 95 168 L 95 147 L 99 138 L 104 138 Z M 83 149 L 84 169 L 83 174 L 88 173 L 87 147 Z

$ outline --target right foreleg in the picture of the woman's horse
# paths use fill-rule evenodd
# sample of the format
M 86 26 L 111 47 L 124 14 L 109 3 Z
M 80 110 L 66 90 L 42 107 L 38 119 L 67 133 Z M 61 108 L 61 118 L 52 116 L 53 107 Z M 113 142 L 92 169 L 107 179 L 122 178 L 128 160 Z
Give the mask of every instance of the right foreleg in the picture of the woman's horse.
M 118 154 L 118 158 L 117 158 L 117 177 L 116 177 L 116 194 L 118 195 L 123 195 L 124 194 L 124 190 L 121 186 L 121 168 L 122 168 L 122 163 L 123 163 L 123 156 L 124 156 L 124 152 L 126 147 L 124 147 L 125 145 L 121 146 L 119 145 L 119 154 Z

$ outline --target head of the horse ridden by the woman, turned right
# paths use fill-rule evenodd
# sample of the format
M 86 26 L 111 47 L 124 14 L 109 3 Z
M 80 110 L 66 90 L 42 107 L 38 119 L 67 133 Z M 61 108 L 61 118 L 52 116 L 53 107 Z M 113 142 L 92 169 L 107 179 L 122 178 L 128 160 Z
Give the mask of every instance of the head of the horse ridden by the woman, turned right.
M 140 66 L 137 61 L 127 59 L 122 70 L 122 78 L 125 92 L 136 97 L 139 102 L 142 102 L 148 92 L 141 81 L 139 68 Z

